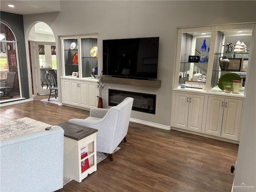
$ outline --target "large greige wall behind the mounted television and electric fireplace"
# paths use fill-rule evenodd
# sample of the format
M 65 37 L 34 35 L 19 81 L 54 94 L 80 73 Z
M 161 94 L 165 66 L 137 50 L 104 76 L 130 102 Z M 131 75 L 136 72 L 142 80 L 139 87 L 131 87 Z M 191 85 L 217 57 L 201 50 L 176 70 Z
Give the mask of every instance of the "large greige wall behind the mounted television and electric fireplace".
M 160 37 L 158 79 L 161 88 L 108 84 L 108 88 L 156 94 L 156 115 L 132 111 L 131 117 L 170 126 L 171 97 L 176 59 L 177 28 L 255 22 L 255 1 L 74 1 L 60 2 L 61 12 L 24 15 L 24 29 L 36 21 L 48 24 L 56 38 L 58 71 L 60 41 L 58 36 L 98 33 L 98 68 L 102 68 L 102 40 L 114 38 Z M 246 10 L 246 16 L 232 10 Z M 61 76 L 59 74 L 58 76 Z M 61 95 L 59 96 L 59 98 Z M 107 106 L 108 89 L 103 102 Z

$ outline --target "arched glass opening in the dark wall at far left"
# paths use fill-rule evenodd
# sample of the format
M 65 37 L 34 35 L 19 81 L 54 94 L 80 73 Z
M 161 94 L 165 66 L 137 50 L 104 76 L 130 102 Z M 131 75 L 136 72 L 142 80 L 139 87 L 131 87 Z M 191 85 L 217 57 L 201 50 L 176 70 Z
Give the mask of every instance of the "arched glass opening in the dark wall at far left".
M 8 24 L 0 23 L 0 98 L 2 102 L 19 100 L 20 85 L 17 39 Z

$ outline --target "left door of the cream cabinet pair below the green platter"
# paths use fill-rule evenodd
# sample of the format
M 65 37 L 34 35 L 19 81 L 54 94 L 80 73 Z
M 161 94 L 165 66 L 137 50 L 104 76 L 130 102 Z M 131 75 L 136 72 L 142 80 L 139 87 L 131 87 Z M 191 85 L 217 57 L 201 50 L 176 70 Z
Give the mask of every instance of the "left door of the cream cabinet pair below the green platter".
M 223 108 L 225 98 L 208 97 L 205 132 L 218 135 L 221 134 Z

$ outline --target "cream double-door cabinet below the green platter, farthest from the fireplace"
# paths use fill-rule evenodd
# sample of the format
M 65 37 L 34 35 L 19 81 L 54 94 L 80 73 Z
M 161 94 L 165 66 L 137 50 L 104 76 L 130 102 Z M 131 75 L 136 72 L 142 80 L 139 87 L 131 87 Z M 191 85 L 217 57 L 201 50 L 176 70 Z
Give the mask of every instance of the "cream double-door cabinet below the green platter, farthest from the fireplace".
M 208 97 L 205 132 L 238 140 L 243 100 Z

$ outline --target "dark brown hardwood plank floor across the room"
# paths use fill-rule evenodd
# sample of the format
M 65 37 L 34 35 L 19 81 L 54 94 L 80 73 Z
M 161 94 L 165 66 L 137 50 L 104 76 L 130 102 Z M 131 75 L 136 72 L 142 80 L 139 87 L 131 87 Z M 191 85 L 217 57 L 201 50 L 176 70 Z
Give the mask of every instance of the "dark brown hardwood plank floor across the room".
M 86 118 L 89 111 L 34 101 L 0 108 L 1 122 L 29 117 L 48 124 Z M 97 171 L 61 192 L 230 192 L 238 145 L 130 122 L 127 142 Z

